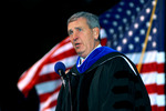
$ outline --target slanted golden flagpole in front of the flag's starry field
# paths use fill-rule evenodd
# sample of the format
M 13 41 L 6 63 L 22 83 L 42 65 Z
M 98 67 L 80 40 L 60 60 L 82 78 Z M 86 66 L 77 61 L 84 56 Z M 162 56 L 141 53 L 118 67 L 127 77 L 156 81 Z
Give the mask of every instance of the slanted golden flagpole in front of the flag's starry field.
M 151 20 L 149 20 L 149 27 L 148 27 L 147 32 L 146 32 L 146 38 L 145 38 L 145 41 L 144 41 L 144 47 L 143 47 L 143 50 L 142 50 L 141 59 L 139 59 L 139 62 L 137 64 L 138 72 L 141 72 L 141 69 L 142 69 L 144 53 L 145 53 L 145 50 L 146 50 L 146 47 L 147 47 L 147 41 L 148 41 L 149 32 L 151 32 L 151 29 L 152 29 L 153 17 L 155 14 L 156 6 L 157 6 L 157 0 L 155 0 L 155 3 L 154 3 L 153 12 L 151 14 Z

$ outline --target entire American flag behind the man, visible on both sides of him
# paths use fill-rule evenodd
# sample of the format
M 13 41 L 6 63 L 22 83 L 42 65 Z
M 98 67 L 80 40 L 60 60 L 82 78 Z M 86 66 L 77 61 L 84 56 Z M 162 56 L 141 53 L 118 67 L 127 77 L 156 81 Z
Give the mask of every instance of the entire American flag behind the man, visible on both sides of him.
M 122 0 L 101 14 L 102 46 L 107 44 L 125 53 L 137 65 L 154 3 L 152 0 Z M 165 111 L 164 34 L 159 33 L 160 9 L 158 8 L 157 3 L 141 74 L 147 88 L 153 111 Z M 77 56 L 68 37 L 20 77 L 19 90 L 27 97 L 35 87 L 40 99 L 39 110 L 54 111 L 62 82 L 53 67 L 55 62 L 62 61 L 66 69 L 70 69 L 76 59 Z

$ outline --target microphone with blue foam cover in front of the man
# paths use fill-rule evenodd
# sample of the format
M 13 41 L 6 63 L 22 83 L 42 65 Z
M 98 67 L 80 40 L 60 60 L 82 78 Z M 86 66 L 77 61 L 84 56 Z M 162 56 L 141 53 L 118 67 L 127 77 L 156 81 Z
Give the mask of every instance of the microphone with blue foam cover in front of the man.
M 54 65 L 54 71 L 61 77 L 62 83 L 65 87 L 65 79 L 66 79 L 66 74 L 65 74 L 65 65 L 62 62 L 56 62 Z

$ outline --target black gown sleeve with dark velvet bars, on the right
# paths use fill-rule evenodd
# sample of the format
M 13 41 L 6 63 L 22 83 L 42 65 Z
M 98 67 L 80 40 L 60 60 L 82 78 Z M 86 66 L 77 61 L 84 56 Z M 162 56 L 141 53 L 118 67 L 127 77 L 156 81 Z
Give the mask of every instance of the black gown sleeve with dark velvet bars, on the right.
M 98 94 L 101 111 L 151 111 L 139 74 L 135 74 L 123 58 L 106 62 L 102 72 Z

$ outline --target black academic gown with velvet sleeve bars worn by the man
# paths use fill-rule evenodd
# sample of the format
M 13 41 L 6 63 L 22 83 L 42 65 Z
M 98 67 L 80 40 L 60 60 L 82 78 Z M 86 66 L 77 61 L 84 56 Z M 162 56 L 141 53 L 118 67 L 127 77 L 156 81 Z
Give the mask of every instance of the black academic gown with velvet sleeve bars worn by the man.
M 84 73 L 74 65 L 68 75 L 55 111 L 152 111 L 134 63 L 118 52 L 102 57 Z

